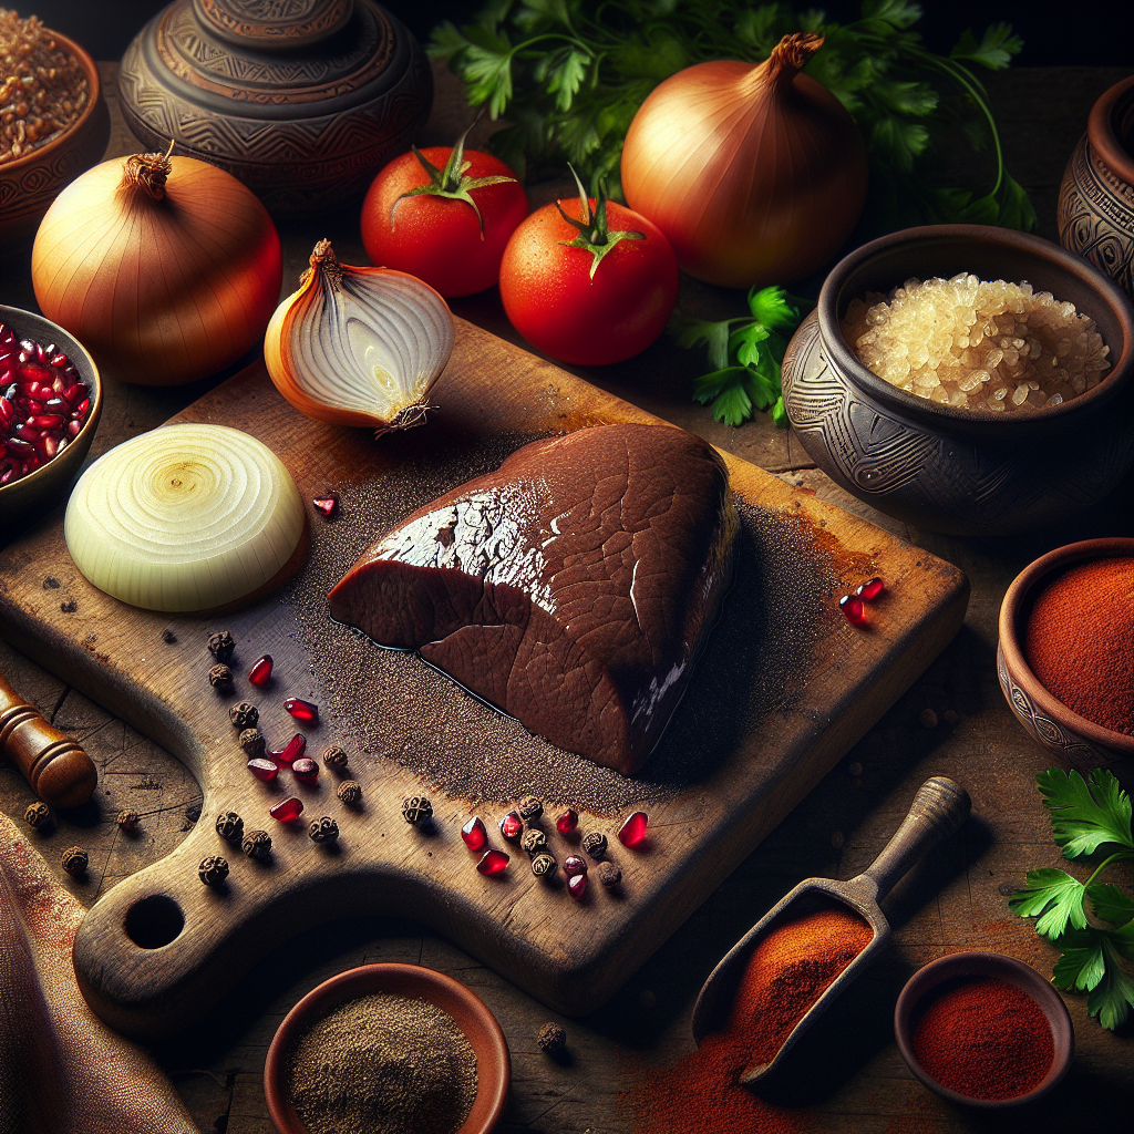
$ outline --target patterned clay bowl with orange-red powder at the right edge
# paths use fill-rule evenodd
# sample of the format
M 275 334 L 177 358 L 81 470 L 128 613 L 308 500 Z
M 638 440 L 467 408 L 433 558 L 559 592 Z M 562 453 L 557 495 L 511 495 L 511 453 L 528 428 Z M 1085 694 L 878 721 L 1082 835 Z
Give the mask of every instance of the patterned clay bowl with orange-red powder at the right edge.
M 997 674 L 1016 719 L 1067 767 L 1134 756 L 1134 539 L 1069 543 L 1016 576 Z

